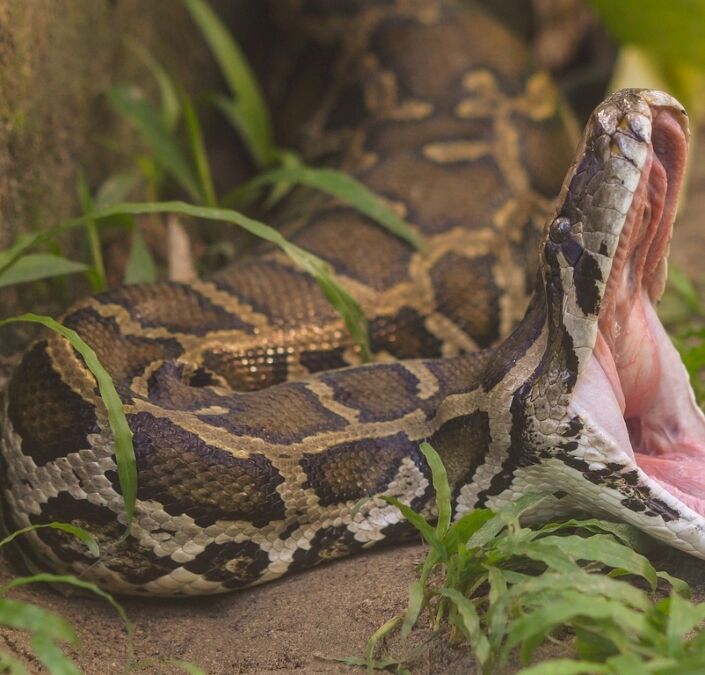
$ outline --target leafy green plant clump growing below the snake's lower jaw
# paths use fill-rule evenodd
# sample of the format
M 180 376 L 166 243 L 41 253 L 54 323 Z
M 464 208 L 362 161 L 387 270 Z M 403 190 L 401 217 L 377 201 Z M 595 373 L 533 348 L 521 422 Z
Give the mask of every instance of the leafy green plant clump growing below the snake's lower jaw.
M 406 611 L 370 639 L 364 659 L 350 665 L 400 671 L 377 659 L 380 640 L 409 634 L 423 610 L 436 630 L 466 642 L 484 673 L 506 666 L 515 648 L 526 666 L 535 650 L 569 628 L 576 659 L 551 659 L 522 671 L 550 673 L 676 673 L 705 669 L 705 604 L 687 599 L 687 584 L 654 569 L 635 548 L 635 528 L 609 521 L 569 519 L 529 528 L 520 517 L 552 495 L 524 495 L 497 512 L 476 509 L 451 522 L 448 478 L 427 443 L 422 452 L 435 489 L 435 526 L 392 497 L 429 546 Z M 646 590 L 633 584 L 640 580 Z M 657 600 L 659 583 L 670 586 Z M 696 631 L 693 633 L 693 631 Z

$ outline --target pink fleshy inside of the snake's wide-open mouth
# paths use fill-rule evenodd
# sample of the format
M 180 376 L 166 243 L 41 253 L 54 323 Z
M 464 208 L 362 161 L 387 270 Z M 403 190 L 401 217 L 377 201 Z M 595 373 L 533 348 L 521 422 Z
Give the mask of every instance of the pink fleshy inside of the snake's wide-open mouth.
M 686 132 L 674 110 L 652 110 L 652 142 L 613 259 L 595 349 L 576 385 L 574 404 L 588 411 L 609 450 L 626 453 L 620 463 L 627 459 L 641 470 L 645 484 L 659 485 L 705 515 L 705 416 L 654 308 L 666 279 Z

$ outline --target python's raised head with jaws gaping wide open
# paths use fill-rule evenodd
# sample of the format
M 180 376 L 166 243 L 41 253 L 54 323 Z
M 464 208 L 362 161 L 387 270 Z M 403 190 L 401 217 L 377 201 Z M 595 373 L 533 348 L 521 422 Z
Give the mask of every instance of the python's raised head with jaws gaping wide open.
M 546 346 L 520 415 L 535 463 L 518 481 L 705 557 L 705 417 L 655 312 L 687 144 L 662 92 L 592 114 L 542 242 Z

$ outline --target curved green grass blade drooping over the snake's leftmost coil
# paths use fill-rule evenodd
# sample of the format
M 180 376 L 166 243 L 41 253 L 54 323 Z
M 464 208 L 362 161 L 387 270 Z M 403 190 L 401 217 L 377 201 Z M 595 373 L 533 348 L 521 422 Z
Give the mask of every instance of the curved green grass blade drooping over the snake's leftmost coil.
M 0 326 L 22 321 L 39 323 L 65 337 L 71 343 L 71 346 L 83 357 L 86 366 L 93 373 L 101 398 L 108 411 L 108 422 L 115 439 L 115 461 L 117 463 L 120 489 L 125 500 L 125 514 L 129 523 L 134 515 L 135 502 L 137 500 L 137 462 L 132 446 L 132 432 L 125 418 L 122 401 L 115 390 L 115 385 L 110 375 L 98 361 L 93 349 L 83 341 L 76 331 L 61 325 L 50 316 L 31 313 L 22 314 L 1 320 Z

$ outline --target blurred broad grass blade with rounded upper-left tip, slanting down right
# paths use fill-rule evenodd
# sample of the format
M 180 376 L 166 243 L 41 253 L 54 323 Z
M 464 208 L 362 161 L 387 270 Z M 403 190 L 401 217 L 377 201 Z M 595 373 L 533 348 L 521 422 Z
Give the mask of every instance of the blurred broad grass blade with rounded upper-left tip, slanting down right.
M 108 99 L 113 108 L 137 129 L 159 164 L 189 197 L 196 202 L 205 201 L 179 144 L 164 127 L 154 106 L 137 89 L 124 84 L 113 86 L 108 92 Z

